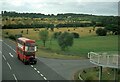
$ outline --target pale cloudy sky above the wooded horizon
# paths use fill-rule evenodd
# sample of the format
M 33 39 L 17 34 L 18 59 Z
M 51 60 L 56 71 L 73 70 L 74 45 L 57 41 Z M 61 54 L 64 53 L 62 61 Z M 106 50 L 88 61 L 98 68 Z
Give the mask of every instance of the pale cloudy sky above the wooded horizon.
M 118 15 L 119 0 L 0 0 L 1 10 L 43 14 Z

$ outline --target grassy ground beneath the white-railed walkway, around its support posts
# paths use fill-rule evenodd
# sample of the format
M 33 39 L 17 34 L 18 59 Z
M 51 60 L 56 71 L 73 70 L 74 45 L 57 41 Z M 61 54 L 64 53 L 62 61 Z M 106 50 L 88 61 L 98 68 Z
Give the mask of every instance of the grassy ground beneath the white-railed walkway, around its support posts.
M 89 68 L 75 73 L 74 79 L 80 80 L 78 76 L 81 76 L 83 80 L 99 80 L 99 67 Z M 116 79 L 120 78 L 120 75 L 116 73 Z M 103 68 L 102 80 L 114 80 L 114 69 Z

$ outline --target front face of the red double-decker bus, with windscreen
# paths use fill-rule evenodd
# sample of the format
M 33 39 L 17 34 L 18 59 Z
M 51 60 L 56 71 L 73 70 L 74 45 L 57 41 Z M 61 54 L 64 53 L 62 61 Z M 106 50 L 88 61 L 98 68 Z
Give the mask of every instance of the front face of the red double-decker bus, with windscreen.
M 35 41 L 33 40 L 26 41 L 24 52 L 26 62 L 34 64 L 37 63 L 37 60 L 35 58 L 35 52 L 36 52 Z

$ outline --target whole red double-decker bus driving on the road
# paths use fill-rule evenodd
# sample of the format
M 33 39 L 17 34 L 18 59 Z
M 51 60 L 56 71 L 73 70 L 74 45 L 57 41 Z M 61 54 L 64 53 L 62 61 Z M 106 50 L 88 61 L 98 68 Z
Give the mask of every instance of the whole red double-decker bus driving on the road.
M 25 65 L 29 63 L 37 63 L 37 60 L 35 58 L 35 40 L 24 37 L 18 38 L 16 52 L 18 59 L 22 60 Z

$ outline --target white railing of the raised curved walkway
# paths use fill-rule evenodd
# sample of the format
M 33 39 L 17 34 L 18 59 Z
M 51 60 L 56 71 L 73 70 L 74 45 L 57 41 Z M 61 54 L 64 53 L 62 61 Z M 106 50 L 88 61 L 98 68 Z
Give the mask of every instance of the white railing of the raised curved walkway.
M 90 59 L 90 62 L 99 66 L 120 68 L 120 64 L 118 63 L 120 61 L 119 55 L 108 55 L 105 53 L 99 54 L 95 52 L 90 52 L 88 53 L 88 58 Z

